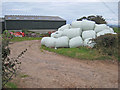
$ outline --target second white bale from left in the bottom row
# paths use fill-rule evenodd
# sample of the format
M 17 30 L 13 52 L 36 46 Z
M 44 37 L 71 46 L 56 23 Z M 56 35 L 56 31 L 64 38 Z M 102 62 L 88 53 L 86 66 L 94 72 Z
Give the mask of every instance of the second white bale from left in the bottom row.
M 56 39 L 55 47 L 69 47 L 69 38 L 62 36 Z

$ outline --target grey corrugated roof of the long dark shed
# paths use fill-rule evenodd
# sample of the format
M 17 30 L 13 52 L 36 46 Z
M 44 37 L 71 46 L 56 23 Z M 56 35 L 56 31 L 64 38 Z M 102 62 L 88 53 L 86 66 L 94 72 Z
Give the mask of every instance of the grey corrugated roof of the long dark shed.
M 59 16 L 29 16 L 29 15 L 5 15 L 5 20 L 50 20 L 65 21 Z

